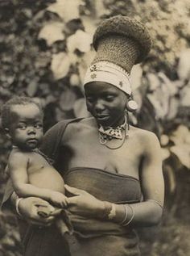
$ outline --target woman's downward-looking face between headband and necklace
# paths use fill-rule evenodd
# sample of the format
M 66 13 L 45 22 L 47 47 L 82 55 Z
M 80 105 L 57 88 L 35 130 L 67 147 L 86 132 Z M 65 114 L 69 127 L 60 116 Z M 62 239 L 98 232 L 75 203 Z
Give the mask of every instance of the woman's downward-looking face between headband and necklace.
M 127 96 L 122 90 L 106 82 L 90 82 L 85 85 L 88 111 L 102 126 L 123 124 Z

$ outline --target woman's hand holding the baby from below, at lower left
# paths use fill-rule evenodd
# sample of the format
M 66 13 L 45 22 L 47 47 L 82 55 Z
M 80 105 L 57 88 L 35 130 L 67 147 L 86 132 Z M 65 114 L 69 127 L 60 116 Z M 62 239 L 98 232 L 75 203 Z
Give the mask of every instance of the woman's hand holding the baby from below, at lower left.
M 39 208 L 45 209 L 46 214 L 40 215 Z M 19 212 L 32 225 L 49 226 L 60 214 L 61 209 L 52 207 L 47 201 L 36 197 L 27 197 L 19 202 Z

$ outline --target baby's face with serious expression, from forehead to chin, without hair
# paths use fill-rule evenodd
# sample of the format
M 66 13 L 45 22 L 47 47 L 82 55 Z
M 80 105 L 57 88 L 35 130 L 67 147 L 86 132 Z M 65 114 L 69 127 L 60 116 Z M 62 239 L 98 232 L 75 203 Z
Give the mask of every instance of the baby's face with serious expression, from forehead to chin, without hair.
M 35 104 L 14 105 L 9 135 L 12 144 L 23 150 L 35 149 L 43 138 L 43 115 Z

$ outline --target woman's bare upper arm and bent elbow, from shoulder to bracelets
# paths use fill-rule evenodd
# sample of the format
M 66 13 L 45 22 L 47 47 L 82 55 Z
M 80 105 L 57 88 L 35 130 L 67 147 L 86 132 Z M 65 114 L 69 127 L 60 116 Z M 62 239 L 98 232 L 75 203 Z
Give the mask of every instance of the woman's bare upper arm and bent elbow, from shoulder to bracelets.
M 157 225 L 163 213 L 164 182 L 159 140 L 152 132 L 144 137 L 141 170 L 143 202 L 133 204 L 135 225 Z

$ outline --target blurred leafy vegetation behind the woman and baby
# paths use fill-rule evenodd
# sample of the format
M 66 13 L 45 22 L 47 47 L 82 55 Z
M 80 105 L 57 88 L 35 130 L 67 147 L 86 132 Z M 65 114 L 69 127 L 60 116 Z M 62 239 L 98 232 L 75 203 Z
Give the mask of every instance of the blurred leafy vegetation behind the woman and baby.
M 57 121 L 88 116 L 82 81 L 92 61 L 93 31 L 113 15 L 147 24 L 151 54 L 131 77 L 139 109 L 132 124 L 159 136 L 166 184 L 163 221 L 139 230 L 142 256 L 190 254 L 190 2 L 188 0 L 0 1 L 0 105 L 14 95 L 41 103 L 45 130 Z M 0 134 L 0 199 L 10 141 Z M 11 212 L 0 213 L 0 256 L 20 256 Z

